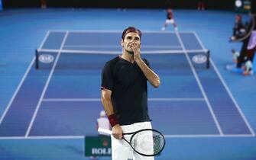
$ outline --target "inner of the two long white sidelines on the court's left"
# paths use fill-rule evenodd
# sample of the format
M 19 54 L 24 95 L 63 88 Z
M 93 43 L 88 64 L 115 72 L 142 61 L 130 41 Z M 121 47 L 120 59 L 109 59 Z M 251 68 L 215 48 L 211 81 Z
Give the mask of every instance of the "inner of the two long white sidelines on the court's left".
M 66 31 L 65 37 L 63 38 L 63 42 L 61 43 L 61 46 L 60 46 L 60 51 L 62 50 L 62 48 L 63 48 L 63 46 L 64 46 L 64 43 L 66 42 L 66 37 L 68 36 L 68 34 L 69 34 L 69 32 Z M 60 53 L 61 53 L 61 52 L 59 52 L 59 53 L 57 54 L 57 57 L 56 57 L 56 59 L 55 59 L 55 62 L 53 63 L 53 68 L 50 70 L 50 75 L 49 75 L 49 77 L 47 78 L 46 84 L 44 85 L 44 90 L 43 90 L 43 92 L 42 92 L 42 94 L 41 94 L 41 98 L 39 99 L 39 101 L 38 101 L 38 103 L 37 103 L 37 107 L 36 107 L 36 110 L 34 111 L 34 114 L 33 114 L 32 120 L 31 120 L 31 123 L 29 123 L 28 130 L 27 130 L 26 135 L 25 135 L 26 137 L 28 137 L 28 135 L 29 135 L 29 133 L 30 133 L 30 131 L 31 131 L 31 127 L 33 126 L 35 117 L 37 116 L 37 112 L 38 112 L 38 110 L 39 110 L 39 107 L 41 106 L 42 99 L 44 98 L 44 94 L 45 94 L 45 92 L 47 91 L 47 87 L 48 87 L 48 85 L 49 85 L 49 83 L 50 83 L 50 79 L 51 79 L 51 77 L 52 77 L 52 75 L 53 75 L 54 69 L 55 69 L 55 67 L 57 66 L 57 61 L 58 61 L 58 59 L 60 58 Z

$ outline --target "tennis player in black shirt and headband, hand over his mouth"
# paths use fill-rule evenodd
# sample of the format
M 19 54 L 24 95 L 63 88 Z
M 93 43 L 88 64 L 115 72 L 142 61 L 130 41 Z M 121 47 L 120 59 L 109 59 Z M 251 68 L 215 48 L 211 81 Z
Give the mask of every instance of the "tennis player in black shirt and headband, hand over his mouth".
M 122 133 L 151 129 L 147 111 L 147 81 L 158 88 L 159 76 L 141 58 L 141 31 L 128 27 L 122 33 L 122 55 L 105 63 L 102 69 L 102 104 L 112 126 L 112 160 L 146 159 L 138 155 Z M 125 138 L 129 139 L 130 137 Z

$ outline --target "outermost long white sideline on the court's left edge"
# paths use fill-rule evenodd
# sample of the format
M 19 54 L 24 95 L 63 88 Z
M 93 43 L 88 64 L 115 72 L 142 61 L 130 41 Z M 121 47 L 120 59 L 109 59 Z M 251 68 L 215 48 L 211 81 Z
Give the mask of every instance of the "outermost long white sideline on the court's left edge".
M 43 39 L 43 41 L 42 41 L 41 44 L 40 44 L 40 47 L 39 47 L 40 49 L 41 49 L 42 46 L 44 45 L 44 42 L 47 40 L 49 34 L 50 34 L 50 31 L 47 31 L 47 34 L 44 36 L 44 39 Z M 2 121 L 4 120 L 4 118 L 5 118 L 5 116 L 6 116 L 7 112 L 8 112 L 8 110 L 9 110 L 9 108 L 11 107 L 12 102 L 15 100 L 15 97 L 16 97 L 16 95 L 18 94 L 18 91 L 20 91 L 21 85 L 23 85 L 25 78 L 27 78 L 28 72 L 31 70 L 31 67 L 32 67 L 33 64 L 34 64 L 34 61 L 35 61 L 35 57 L 31 60 L 31 63 L 30 63 L 30 65 L 28 66 L 28 69 L 26 70 L 26 72 L 24 73 L 23 77 L 21 78 L 21 82 L 19 83 L 18 87 L 17 87 L 16 90 L 15 90 L 15 93 L 12 95 L 11 100 L 9 101 L 7 107 L 5 108 L 5 111 L 4 111 L 4 113 L 2 114 L 2 117 L 1 117 L 1 119 L 0 119 L 0 125 L 1 125 Z

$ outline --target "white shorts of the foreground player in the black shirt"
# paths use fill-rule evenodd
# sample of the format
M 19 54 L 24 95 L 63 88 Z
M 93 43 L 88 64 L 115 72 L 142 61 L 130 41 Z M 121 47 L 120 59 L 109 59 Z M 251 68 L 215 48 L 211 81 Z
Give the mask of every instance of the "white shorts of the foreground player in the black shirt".
M 132 133 L 143 129 L 152 129 L 151 122 L 133 123 L 130 125 L 121 126 L 123 133 Z M 125 136 L 125 139 L 129 141 L 131 135 Z M 154 160 L 154 157 L 139 155 L 131 149 L 131 146 L 123 139 L 115 139 L 111 136 L 112 142 L 112 160 Z M 153 149 L 153 148 L 152 148 Z

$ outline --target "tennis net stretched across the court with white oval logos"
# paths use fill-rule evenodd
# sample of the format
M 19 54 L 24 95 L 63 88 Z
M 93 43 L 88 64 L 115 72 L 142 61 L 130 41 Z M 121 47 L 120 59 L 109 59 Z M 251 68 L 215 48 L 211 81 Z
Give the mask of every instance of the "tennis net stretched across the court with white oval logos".
M 36 69 L 102 69 L 105 62 L 122 52 L 90 50 L 36 50 Z M 154 69 L 195 67 L 209 69 L 209 50 L 161 50 L 144 52 Z

